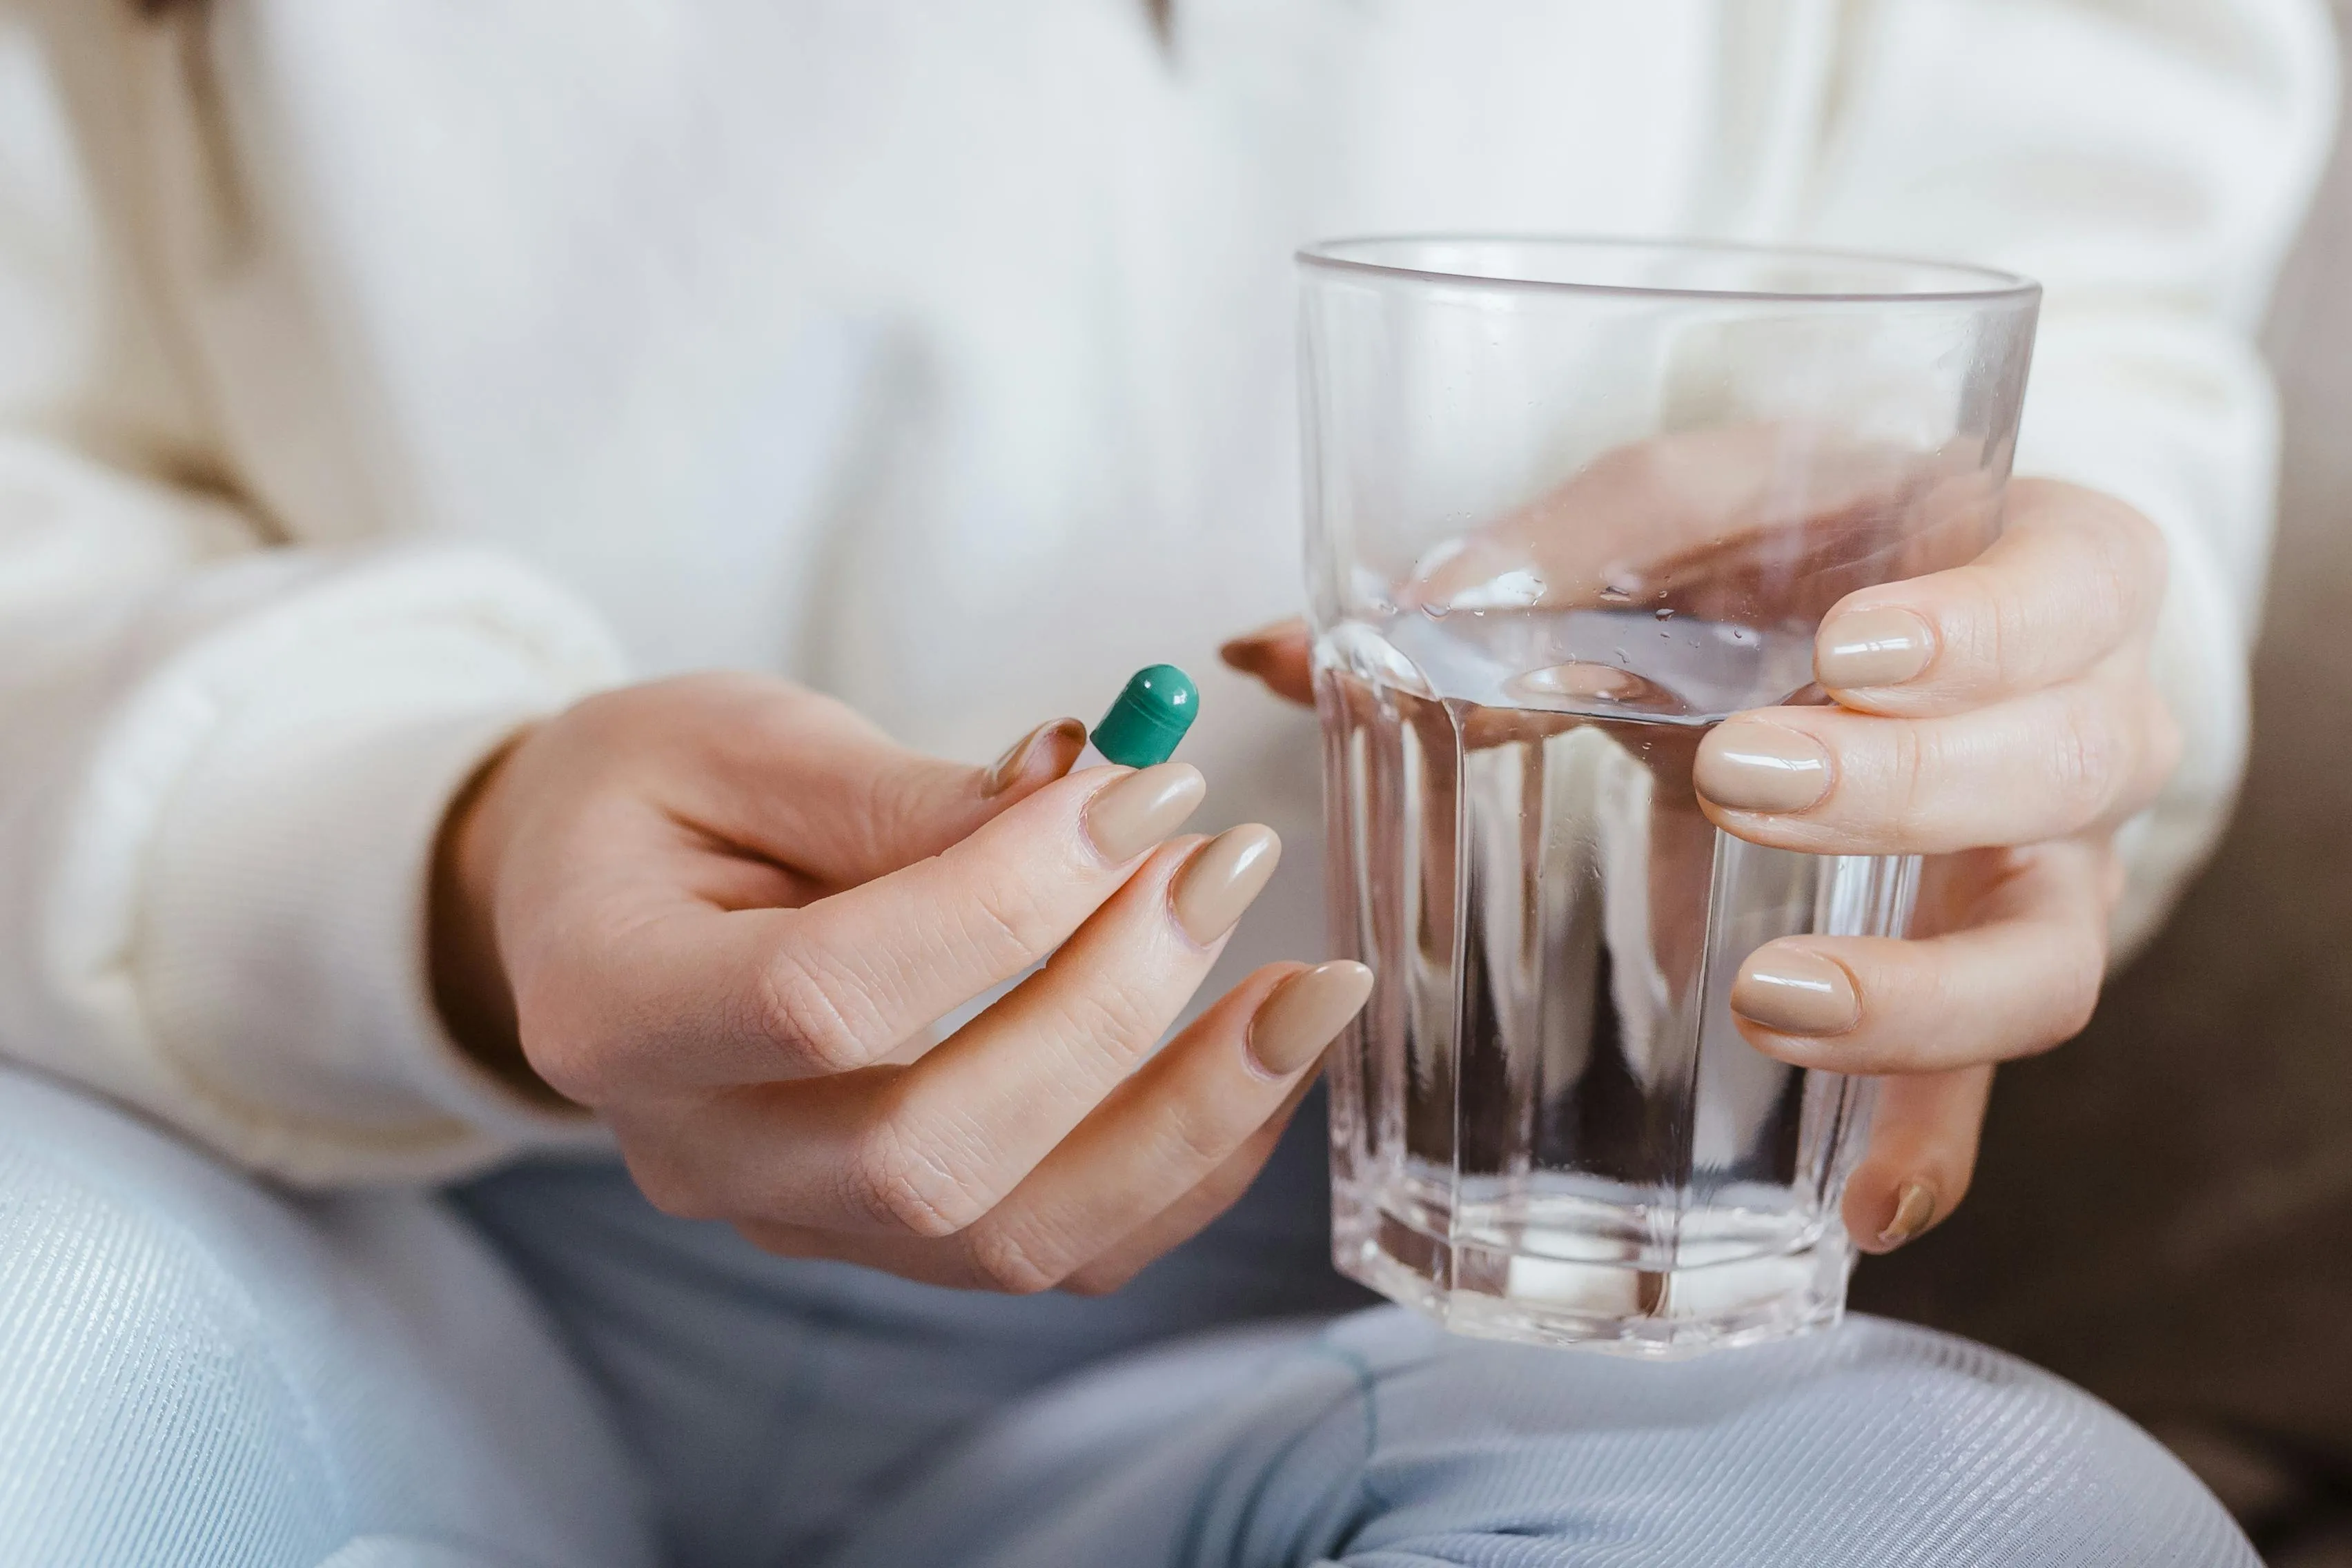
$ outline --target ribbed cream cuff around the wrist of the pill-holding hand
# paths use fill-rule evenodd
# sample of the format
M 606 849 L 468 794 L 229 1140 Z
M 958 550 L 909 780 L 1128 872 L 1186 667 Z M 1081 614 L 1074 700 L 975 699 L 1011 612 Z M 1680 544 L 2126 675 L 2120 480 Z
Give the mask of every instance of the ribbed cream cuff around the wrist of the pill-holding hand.
M 619 658 L 583 609 L 489 557 L 358 576 L 207 646 L 132 726 L 136 771 L 165 785 L 129 971 L 167 1114 L 299 1185 L 602 1143 L 449 1039 L 426 898 L 452 797 Z

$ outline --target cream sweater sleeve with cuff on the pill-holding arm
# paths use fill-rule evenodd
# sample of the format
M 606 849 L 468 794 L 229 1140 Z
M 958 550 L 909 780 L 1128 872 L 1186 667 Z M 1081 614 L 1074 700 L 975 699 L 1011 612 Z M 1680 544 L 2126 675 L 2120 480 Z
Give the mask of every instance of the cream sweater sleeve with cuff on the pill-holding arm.
M 447 1039 L 423 903 L 452 795 L 609 637 L 240 498 L 47 45 L 0 7 L 0 1051 L 299 1185 L 595 1138 Z

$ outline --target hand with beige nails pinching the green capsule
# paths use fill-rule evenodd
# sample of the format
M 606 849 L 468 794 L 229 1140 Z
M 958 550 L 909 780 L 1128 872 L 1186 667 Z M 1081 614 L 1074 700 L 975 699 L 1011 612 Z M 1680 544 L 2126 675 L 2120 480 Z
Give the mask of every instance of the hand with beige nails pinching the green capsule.
M 442 1013 L 604 1117 L 668 1213 L 931 1284 L 1112 1288 L 1240 1197 L 1371 971 L 1270 964 L 1155 1056 L 1279 844 L 1174 837 L 1200 773 L 1065 778 L 1082 743 L 1063 719 L 981 771 L 774 679 L 588 698 L 449 813 Z

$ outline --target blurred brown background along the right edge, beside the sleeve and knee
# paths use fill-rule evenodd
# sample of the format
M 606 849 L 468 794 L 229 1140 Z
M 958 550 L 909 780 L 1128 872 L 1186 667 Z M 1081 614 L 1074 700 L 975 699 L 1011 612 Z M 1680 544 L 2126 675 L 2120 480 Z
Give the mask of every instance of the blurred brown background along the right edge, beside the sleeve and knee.
M 1856 1305 L 2082 1382 L 2270 1563 L 2352 1568 L 2352 129 L 2267 348 L 2286 465 L 2237 823 L 2091 1030 L 2002 1072 L 1969 1204 Z

